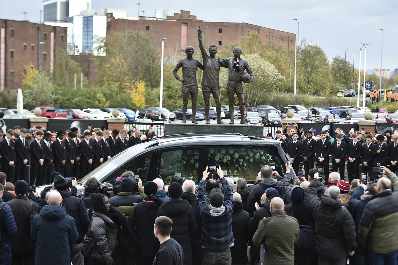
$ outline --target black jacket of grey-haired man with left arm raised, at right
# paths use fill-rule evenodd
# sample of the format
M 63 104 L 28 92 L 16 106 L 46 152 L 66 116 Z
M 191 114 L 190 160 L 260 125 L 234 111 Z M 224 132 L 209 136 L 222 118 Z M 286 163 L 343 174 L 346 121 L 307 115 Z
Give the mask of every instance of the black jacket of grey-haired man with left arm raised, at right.
M 348 210 L 332 198 L 318 197 L 318 179 L 308 186 L 307 200 L 315 216 L 316 254 L 337 259 L 355 250 L 355 225 Z

